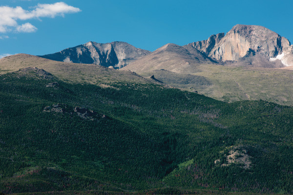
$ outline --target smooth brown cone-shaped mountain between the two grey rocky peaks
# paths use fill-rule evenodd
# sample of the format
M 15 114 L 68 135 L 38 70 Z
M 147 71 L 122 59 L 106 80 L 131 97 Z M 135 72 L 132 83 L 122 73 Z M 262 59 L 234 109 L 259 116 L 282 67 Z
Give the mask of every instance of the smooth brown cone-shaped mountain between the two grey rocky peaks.
M 202 63 L 216 63 L 197 49 L 185 45 L 168 43 L 150 54 L 129 63 L 121 70 L 144 73 L 152 70 L 165 69 L 175 73 L 197 72 Z

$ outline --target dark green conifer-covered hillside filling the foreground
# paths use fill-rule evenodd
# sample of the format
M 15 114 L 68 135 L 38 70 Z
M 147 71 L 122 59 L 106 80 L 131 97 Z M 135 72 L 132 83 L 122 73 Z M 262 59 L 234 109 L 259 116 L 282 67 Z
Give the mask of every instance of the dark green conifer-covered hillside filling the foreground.
M 293 193 L 292 106 L 101 86 L 0 76 L 0 192 Z

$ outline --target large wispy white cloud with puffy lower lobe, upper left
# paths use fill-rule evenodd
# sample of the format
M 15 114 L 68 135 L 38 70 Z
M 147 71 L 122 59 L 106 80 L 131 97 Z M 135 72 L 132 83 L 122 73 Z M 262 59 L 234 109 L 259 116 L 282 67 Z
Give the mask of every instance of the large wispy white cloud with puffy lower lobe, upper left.
M 39 3 L 33 10 L 24 10 L 20 6 L 0 6 L 0 33 L 13 30 L 17 32 L 35 32 L 37 28 L 31 23 L 19 25 L 17 20 L 40 19 L 42 17 L 55 18 L 56 16 L 64 17 L 64 14 L 80 11 L 79 8 L 67 5 L 64 2 L 54 4 Z

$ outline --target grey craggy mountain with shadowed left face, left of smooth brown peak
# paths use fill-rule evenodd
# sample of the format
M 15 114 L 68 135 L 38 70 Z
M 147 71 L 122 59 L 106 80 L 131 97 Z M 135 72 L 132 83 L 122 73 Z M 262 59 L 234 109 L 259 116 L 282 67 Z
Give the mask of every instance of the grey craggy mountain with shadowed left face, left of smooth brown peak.
M 121 68 L 149 53 L 147 50 L 136 48 L 126 42 L 96 43 L 90 41 L 83 45 L 64 49 L 55 54 L 40 57 L 56 61 L 98 64 L 105 67 Z

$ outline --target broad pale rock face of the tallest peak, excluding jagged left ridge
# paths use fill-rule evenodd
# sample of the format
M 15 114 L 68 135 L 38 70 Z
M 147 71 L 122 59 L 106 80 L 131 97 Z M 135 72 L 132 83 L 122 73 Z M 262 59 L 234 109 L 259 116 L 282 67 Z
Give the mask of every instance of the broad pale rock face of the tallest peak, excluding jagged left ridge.
M 286 66 L 293 65 L 293 61 L 285 61 L 293 54 L 293 46 L 289 40 L 256 25 L 235 25 L 210 51 L 209 57 L 222 61 L 238 60 L 246 56 L 250 50 L 271 60 L 276 58 L 282 61 L 286 56 L 282 63 Z

